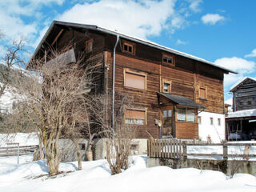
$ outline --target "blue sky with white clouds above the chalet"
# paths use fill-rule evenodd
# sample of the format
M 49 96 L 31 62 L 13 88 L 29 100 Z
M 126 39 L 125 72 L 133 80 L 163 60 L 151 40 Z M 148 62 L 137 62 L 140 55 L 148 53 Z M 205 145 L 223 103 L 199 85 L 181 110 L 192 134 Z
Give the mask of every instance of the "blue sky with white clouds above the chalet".
M 1 0 L 0 55 L 24 37 L 31 52 L 53 20 L 94 24 L 184 51 L 256 78 L 256 1 L 246 0 Z

